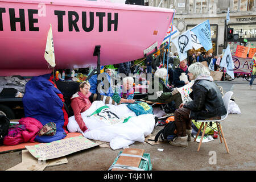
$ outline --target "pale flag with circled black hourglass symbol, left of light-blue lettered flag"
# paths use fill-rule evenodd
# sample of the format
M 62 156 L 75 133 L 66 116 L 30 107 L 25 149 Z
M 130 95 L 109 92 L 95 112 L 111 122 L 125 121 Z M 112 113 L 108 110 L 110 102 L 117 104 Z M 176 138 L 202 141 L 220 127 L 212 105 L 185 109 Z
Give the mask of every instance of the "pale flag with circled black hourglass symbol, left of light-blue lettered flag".
M 172 40 L 172 42 L 177 48 L 180 61 L 186 59 L 188 57 L 187 51 L 192 49 L 190 30 L 185 31 L 176 39 Z

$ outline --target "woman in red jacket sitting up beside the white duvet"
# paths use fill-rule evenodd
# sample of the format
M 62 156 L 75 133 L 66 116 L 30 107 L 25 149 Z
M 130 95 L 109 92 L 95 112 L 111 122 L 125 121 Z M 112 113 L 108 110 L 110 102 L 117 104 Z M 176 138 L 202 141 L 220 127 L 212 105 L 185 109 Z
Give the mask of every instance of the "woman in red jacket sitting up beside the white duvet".
M 89 129 L 85 126 L 81 113 L 92 105 L 89 100 L 91 94 L 89 81 L 84 81 L 79 85 L 79 92 L 71 97 L 71 107 L 74 111 L 76 122 L 84 133 L 89 131 Z

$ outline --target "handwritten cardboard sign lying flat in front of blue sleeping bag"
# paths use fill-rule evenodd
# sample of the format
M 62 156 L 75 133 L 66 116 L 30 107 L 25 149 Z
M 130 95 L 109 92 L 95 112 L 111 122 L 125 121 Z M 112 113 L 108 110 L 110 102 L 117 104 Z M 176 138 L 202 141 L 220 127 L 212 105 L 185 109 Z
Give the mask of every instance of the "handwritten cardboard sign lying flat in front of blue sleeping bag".
M 25 147 L 36 159 L 48 160 L 60 158 L 98 145 L 98 143 L 94 143 L 85 137 L 79 136 Z

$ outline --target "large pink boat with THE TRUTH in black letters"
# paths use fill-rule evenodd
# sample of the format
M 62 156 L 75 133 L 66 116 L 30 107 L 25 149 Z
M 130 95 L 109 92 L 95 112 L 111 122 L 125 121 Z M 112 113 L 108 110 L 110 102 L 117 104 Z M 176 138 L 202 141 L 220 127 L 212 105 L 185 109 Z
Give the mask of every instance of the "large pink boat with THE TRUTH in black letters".
M 55 69 L 97 66 L 144 57 L 157 48 L 175 10 L 85 0 L 0 2 L 0 76 L 38 76 L 52 71 L 44 59 L 52 25 Z M 152 52 L 152 51 L 151 51 Z

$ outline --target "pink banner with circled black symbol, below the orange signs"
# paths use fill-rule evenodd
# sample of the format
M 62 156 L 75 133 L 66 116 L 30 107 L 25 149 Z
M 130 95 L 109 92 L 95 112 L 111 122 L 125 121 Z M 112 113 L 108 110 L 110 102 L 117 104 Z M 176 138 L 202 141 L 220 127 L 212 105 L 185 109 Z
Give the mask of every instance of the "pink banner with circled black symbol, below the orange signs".
M 234 64 L 234 73 L 250 73 L 253 69 L 250 58 L 232 56 L 232 59 Z

